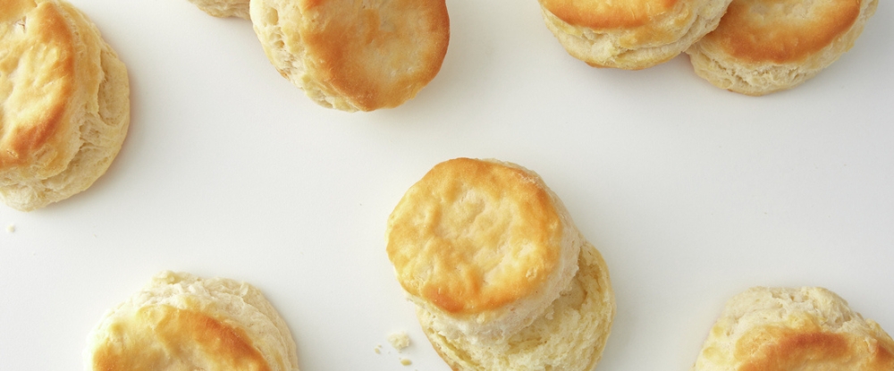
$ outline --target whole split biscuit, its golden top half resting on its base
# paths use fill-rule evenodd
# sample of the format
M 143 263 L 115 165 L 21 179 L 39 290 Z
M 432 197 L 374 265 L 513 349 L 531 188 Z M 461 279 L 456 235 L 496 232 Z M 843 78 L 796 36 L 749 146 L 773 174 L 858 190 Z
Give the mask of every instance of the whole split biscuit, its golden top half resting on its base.
M 585 369 L 602 354 L 614 316 L 608 270 L 536 173 L 496 160 L 437 164 L 401 198 L 386 236 L 398 282 L 454 369 Z

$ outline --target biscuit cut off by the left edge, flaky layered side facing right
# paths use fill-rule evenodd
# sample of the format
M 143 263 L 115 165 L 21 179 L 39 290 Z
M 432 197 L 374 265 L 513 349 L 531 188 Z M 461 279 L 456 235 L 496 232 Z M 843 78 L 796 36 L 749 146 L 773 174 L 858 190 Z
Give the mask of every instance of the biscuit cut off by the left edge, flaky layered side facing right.
M 30 211 L 89 188 L 130 123 L 127 69 L 64 1 L 0 2 L 0 197 Z

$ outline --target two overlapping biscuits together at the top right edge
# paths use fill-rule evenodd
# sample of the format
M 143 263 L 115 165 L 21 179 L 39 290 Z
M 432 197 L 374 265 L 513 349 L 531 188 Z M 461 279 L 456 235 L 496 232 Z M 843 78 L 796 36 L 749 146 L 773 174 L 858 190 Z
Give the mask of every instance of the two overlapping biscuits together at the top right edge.
M 570 55 L 638 70 L 680 53 L 713 85 L 760 96 L 808 80 L 844 54 L 877 0 L 540 0 Z

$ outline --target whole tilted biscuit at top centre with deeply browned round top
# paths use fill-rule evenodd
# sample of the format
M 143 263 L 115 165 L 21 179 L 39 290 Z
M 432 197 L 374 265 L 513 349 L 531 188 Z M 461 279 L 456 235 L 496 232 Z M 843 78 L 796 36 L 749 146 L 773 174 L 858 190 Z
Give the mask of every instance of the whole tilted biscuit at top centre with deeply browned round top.
M 403 104 L 441 70 L 443 0 L 253 0 L 274 67 L 317 104 L 372 111 Z

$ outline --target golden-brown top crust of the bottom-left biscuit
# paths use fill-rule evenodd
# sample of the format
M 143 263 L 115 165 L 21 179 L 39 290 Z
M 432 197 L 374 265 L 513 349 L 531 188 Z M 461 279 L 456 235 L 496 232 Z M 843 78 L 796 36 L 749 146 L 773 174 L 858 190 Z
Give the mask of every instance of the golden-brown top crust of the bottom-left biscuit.
M 270 367 L 244 331 L 207 314 L 165 305 L 108 325 L 96 370 L 254 370 Z

